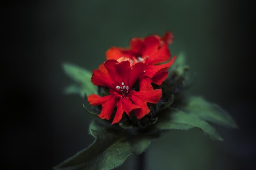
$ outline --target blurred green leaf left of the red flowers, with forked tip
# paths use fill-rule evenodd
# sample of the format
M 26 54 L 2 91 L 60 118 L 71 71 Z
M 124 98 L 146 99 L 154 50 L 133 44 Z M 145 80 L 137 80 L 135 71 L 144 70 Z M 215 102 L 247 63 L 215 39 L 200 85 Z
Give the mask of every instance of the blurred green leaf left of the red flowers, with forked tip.
M 80 94 L 81 97 L 85 97 L 97 93 L 97 86 L 91 82 L 92 72 L 67 63 L 63 64 L 63 69 L 66 75 L 76 82 L 65 89 L 66 94 Z

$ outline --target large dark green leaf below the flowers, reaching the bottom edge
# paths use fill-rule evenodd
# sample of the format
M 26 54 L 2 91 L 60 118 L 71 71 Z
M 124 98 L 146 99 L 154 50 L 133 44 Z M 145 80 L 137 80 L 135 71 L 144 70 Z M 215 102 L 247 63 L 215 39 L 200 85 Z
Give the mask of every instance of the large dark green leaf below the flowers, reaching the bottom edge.
M 89 133 L 95 137 L 86 149 L 54 167 L 55 170 L 111 170 L 126 160 L 130 154 L 141 154 L 150 144 L 150 136 L 131 136 L 96 121 Z

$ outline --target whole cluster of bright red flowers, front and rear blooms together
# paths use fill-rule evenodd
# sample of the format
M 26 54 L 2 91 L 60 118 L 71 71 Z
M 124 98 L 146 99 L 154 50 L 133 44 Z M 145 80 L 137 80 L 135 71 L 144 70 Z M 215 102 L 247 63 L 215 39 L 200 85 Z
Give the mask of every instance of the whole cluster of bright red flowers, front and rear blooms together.
M 132 38 L 129 48 L 111 47 L 106 52 L 107 60 L 93 71 L 92 83 L 108 88 L 108 95 L 88 96 L 90 104 L 102 106 L 101 119 L 113 119 L 115 124 L 124 113 L 129 117 L 134 113 L 137 119 L 150 113 L 148 104 L 160 101 L 160 85 L 176 58 L 171 58 L 168 49 L 172 42 L 173 34 L 166 32 L 162 38 L 159 35 Z

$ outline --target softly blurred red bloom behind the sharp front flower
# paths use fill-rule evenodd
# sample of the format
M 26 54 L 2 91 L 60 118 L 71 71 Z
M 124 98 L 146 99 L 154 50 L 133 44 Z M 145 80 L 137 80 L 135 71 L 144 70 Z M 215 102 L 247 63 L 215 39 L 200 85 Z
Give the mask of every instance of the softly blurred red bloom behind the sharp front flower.
M 168 44 L 173 42 L 173 34 L 166 32 L 163 38 L 159 35 L 148 36 L 145 39 L 132 38 L 130 40 L 130 49 L 111 47 L 106 52 L 107 60 L 130 60 L 132 64 L 142 62 L 146 64 L 144 73 L 139 77 L 140 91 L 153 91 L 151 82 L 161 85 L 168 75 L 168 68 L 175 61 L 174 56 L 171 58 Z M 158 64 L 158 65 L 157 65 Z M 100 66 L 103 70 L 104 66 Z

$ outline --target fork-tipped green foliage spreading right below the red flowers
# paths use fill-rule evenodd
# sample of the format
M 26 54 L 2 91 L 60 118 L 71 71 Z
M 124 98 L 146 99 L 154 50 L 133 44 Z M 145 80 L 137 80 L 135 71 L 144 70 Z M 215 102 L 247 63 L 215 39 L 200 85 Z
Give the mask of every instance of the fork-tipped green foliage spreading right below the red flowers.
M 207 121 L 231 128 L 237 127 L 233 119 L 215 104 L 210 104 L 201 97 L 191 97 L 186 106 L 180 109 L 173 108 L 171 113 L 159 115 L 157 128 L 188 130 L 197 127 L 211 139 L 222 140 Z

